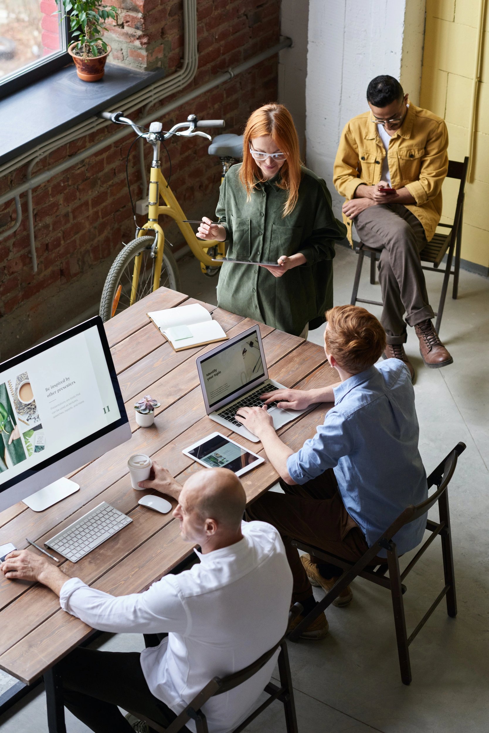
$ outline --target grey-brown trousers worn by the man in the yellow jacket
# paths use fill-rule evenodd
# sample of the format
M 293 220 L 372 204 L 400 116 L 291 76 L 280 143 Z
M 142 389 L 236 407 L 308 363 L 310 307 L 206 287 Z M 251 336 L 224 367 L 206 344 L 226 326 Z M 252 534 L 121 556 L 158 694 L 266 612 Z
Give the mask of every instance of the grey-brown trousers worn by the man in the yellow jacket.
M 423 226 L 402 204 L 380 204 L 359 213 L 355 228 L 362 243 L 381 250 L 378 279 L 383 311 L 380 320 L 387 343 L 404 344 L 406 322 L 413 326 L 434 315 L 419 259 L 419 252 L 427 243 Z

